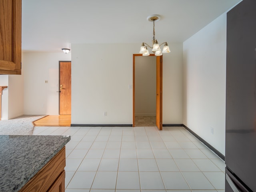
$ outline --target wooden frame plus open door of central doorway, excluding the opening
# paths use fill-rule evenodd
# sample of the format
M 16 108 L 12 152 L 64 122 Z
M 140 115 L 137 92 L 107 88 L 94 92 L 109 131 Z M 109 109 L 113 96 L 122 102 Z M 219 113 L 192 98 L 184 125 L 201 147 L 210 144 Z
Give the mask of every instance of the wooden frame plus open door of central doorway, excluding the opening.
M 135 56 L 142 54 L 133 54 L 133 120 L 132 126 L 135 126 Z M 150 56 L 155 56 L 150 54 Z M 156 126 L 162 130 L 162 58 L 156 56 Z

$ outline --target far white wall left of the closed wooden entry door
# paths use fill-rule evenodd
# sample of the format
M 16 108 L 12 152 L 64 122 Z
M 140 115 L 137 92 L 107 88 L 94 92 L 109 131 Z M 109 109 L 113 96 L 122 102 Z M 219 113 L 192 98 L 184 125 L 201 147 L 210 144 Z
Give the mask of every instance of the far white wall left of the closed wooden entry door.
M 58 115 L 59 61 L 70 60 L 71 52 L 23 53 L 24 114 Z

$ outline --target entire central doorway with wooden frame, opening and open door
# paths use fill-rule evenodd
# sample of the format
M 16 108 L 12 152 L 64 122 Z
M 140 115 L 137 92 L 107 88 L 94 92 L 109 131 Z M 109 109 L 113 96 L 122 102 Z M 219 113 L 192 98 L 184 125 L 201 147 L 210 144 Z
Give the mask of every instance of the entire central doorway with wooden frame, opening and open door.
M 162 130 L 162 56 L 133 55 L 133 126 Z

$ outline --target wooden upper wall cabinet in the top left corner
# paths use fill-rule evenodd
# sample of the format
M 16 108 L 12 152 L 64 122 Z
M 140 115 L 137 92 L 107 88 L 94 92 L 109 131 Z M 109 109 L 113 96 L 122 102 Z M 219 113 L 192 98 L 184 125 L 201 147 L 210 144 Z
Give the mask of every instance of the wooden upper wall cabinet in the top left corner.
M 0 0 L 0 74 L 21 74 L 21 1 Z

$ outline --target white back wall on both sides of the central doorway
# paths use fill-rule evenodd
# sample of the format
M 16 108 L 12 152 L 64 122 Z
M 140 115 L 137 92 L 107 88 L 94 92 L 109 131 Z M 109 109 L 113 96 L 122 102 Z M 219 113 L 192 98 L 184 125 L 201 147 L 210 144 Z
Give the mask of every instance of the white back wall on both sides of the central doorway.
M 172 53 L 163 56 L 163 124 L 182 123 L 182 44 L 169 46 Z M 139 48 L 72 44 L 72 124 L 132 124 L 128 86 Z

